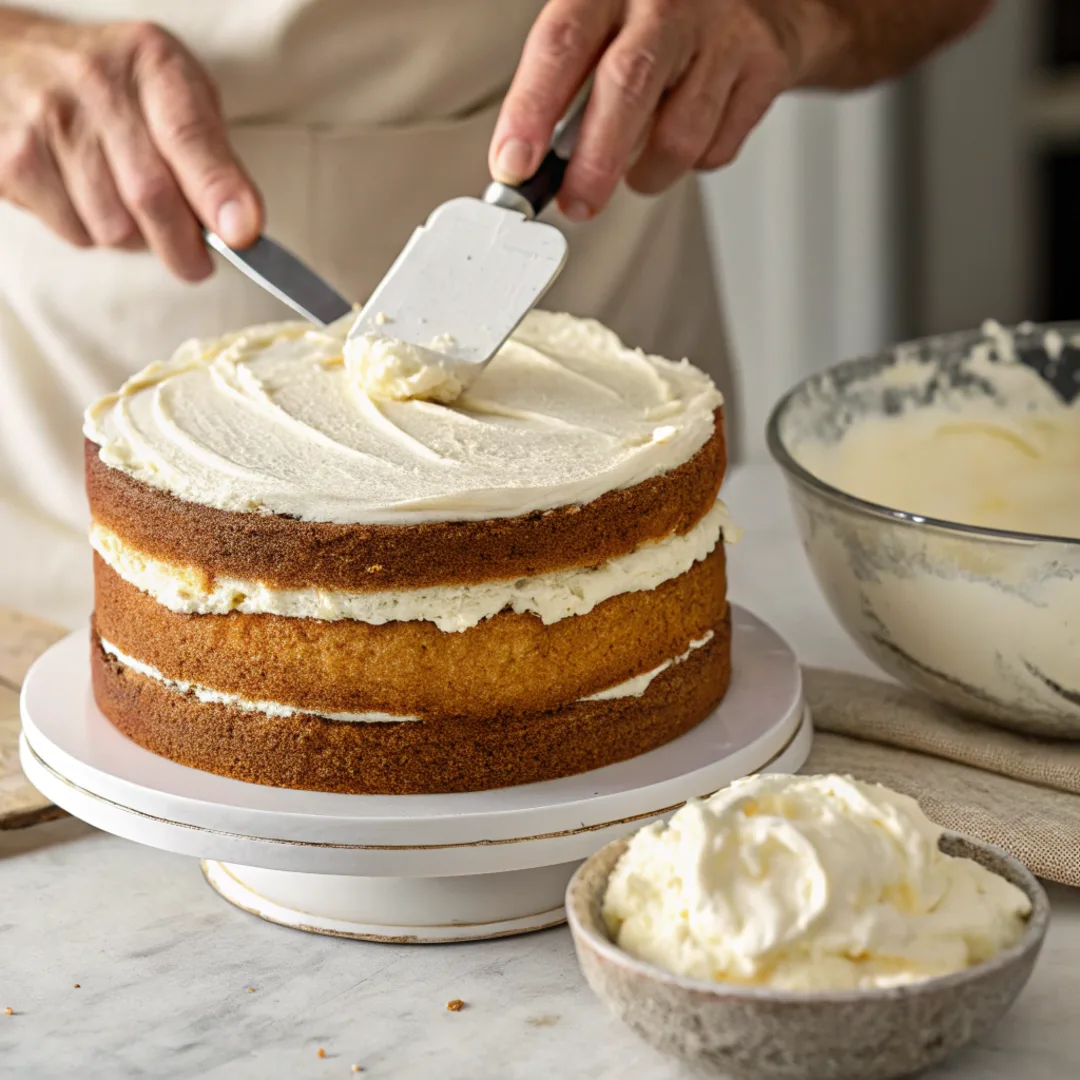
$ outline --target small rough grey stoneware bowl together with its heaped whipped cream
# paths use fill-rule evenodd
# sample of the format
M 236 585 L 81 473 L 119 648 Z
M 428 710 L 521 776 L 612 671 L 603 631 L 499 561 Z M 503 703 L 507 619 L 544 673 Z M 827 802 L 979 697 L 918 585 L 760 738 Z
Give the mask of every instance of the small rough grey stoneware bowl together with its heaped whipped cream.
M 757 775 L 593 855 L 582 973 L 697 1075 L 893 1080 L 990 1029 L 1050 919 L 1004 852 L 846 777 Z

